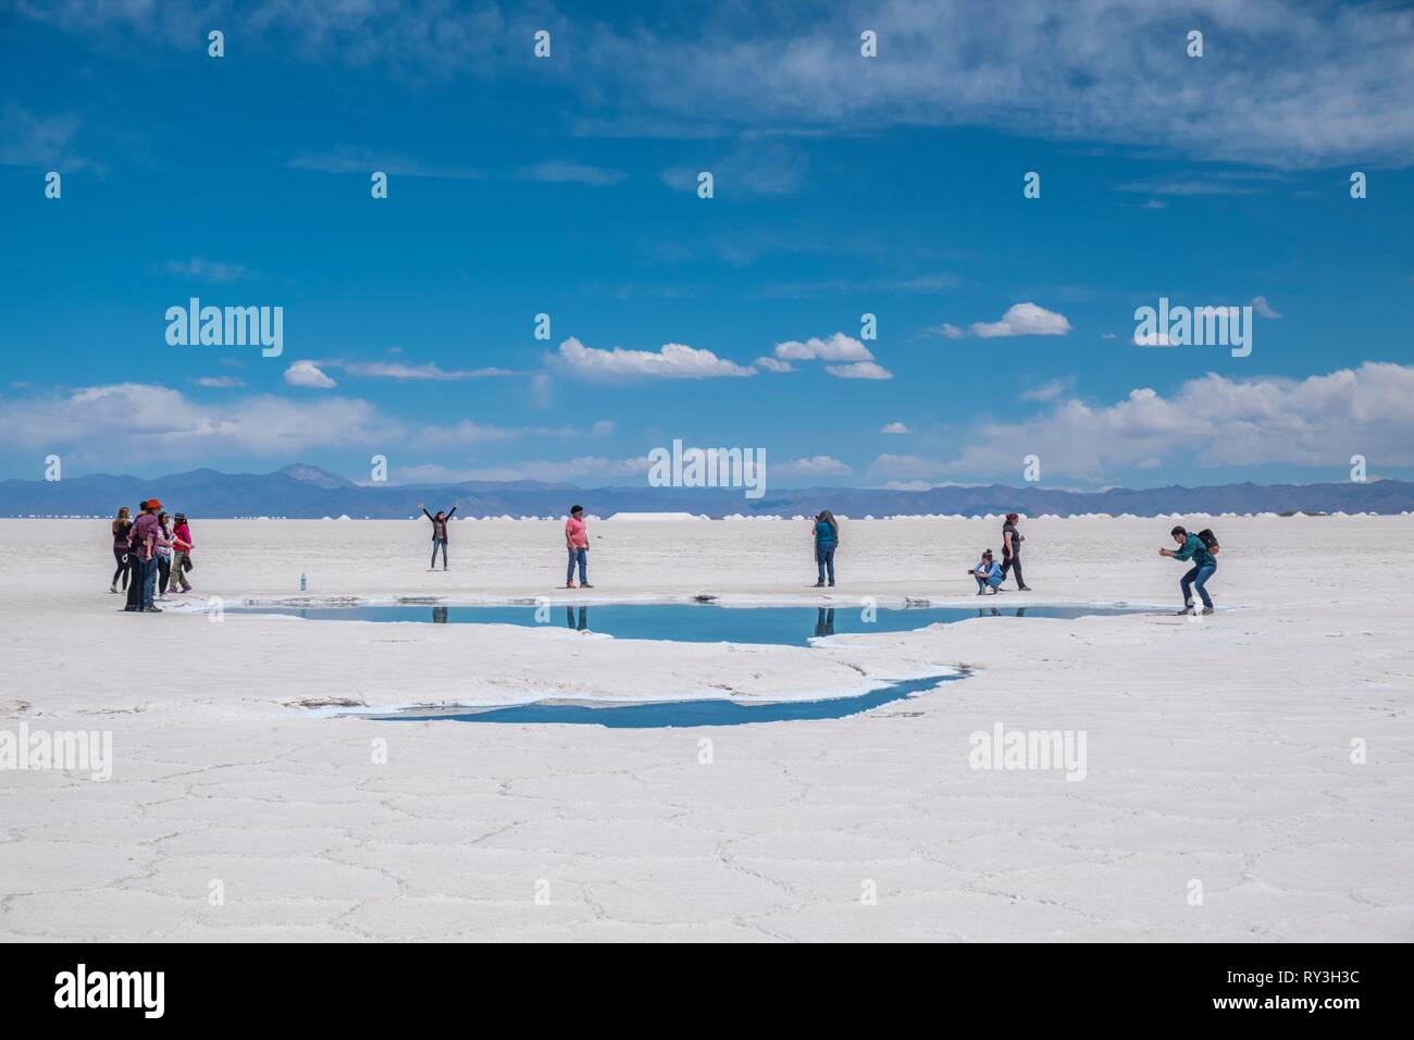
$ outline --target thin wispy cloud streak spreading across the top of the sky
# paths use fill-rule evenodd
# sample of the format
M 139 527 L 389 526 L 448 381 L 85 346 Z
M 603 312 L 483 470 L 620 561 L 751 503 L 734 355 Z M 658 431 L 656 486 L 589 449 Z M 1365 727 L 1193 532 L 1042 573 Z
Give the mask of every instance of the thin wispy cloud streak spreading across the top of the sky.
M 139 0 L 17 7 L 20 17 L 103 42 L 132 30 L 139 41 L 126 52 L 143 57 L 160 44 L 188 47 L 209 21 L 202 10 Z M 226 23 L 247 52 L 283 62 L 438 81 L 557 78 L 584 86 L 591 113 L 605 96 L 622 99 L 621 119 L 641 136 L 655 126 L 697 139 L 742 129 L 993 126 L 1199 160 L 1309 168 L 1414 160 L 1414 21 L 1403 4 L 1208 0 L 1198 11 L 1208 38 L 1222 41 L 1220 57 L 1188 58 L 1185 25 L 1161 3 L 1120 10 L 1113 0 L 1073 0 L 1056 18 L 1046 0 L 878 0 L 870 27 L 888 51 L 867 75 L 841 72 L 841 41 L 857 48 L 860 31 L 847 4 L 809 16 L 775 4 L 690 25 L 578 16 L 571 27 L 534 6 L 286 1 L 236 6 Z M 537 27 L 592 45 L 575 48 L 573 61 L 529 62 L 523 41 Z M 1126 45 L 1104 45 L 1117 33 Z M 1202 75 L 1210 61 L 1222 62 L 1222 75 Z

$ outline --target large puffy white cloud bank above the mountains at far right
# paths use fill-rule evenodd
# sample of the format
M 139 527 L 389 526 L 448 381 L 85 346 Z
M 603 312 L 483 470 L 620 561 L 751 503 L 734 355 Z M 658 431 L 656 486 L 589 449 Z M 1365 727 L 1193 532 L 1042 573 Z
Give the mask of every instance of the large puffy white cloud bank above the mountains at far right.
M 1041 456 L 1051 473 L 1087 480 L 1176 457 L 1200 466 L 1346 467 L 1352 454 L 1365 454 L 1411 466 L 1414 365 L 1367 361 L 1299 381 L 1209 374 L 1171 398 L 1137 388 L 1113 405 L 1056 400 L 1025 422 L 986 424 L 932 473 L 1010 470 L 1018 453 Z

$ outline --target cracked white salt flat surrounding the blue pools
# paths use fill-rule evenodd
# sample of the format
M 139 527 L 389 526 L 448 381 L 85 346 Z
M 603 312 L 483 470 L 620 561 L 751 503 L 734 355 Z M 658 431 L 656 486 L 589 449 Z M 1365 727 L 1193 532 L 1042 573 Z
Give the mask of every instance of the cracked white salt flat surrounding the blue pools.
M 563 627 L 122 614 L 99 566 L 106 524 L 0 521 L 27 546 L 0 556 L 0 727 L 99 726 L 115 753 L 109 782 L 0 773 L 0 938 L 1408 941 L 1410 524 L 1225 519 L 1213 591 L 1249 608 L 1202 624 L 990 618 L 727 649 Z M 448 591 L 390 555 L 406 539 L 426 562 L 406 522 L 277 526 L 252 553 L 252 522 L 205 522 L 202 594 L 288 594 L 301 572 L 328 594 Z M 595 573 L 645 597 L 781 594 L 800 584 L 797 526 L 701 524 L 684 555 L 662 525 L 625 524 L 595 542 Z M 1038 526 L 1027 579 L 1056 601 L 1176 600 L 1175 569 L 1144 562 L 1169 522 Z M 939 546 L 987 545 L 994 528 L 851 522 L 846 591 L 964 606 L 966 584 L 936 577 Z M 543 586 L 526 562 L 557 525 L 475 531 L 478 591 Z M 1367 546 L 1387 582 L 1352 579 L 1312 539 Z M 92 566 L 75 556 L 85 545 Z M 133 652 L 139 627 L 146 648 L 180 651 L 180 675 L 165 652 Z M 406 641 L 376 641 L 392 632 Z M 287 706 L 665 689 L 778 702 L 959 661 L 978 671 L 864 715 L 715 730 L 397 726 Z M 1087 778 L 971 770 L 969 734 L 997 720 L 1086 730 Z M 386 763 L 370 761 L 373 740 Z

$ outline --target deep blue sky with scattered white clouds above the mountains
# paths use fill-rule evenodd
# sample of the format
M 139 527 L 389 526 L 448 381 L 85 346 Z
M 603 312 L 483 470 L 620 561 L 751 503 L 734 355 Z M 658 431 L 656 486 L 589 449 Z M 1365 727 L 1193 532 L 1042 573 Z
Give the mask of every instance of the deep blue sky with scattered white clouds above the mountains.
M 1414 475 L 1407 10 L 21 3 L 0 52 L 3 477 Z M 281 357 L 168 345 L 191 296 Z M 1137 345 L 1159 297 L 1250 357 Z

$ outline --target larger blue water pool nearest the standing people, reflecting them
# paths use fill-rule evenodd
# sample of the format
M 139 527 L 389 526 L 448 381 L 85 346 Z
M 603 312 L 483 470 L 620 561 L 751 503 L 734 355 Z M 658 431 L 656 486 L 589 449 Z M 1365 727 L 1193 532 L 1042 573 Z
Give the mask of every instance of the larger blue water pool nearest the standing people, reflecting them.
M 392 604 L 356 607 L 228 607 L 236 614 L 284 614 L 308 621 L 411 621 L 561 627 L 619 640 L 809 645 L 826 635 L 905 632 L 974 617 L 1077 618 L 1151 613 L 1134 607 L 721 607 L 710 603 Z

